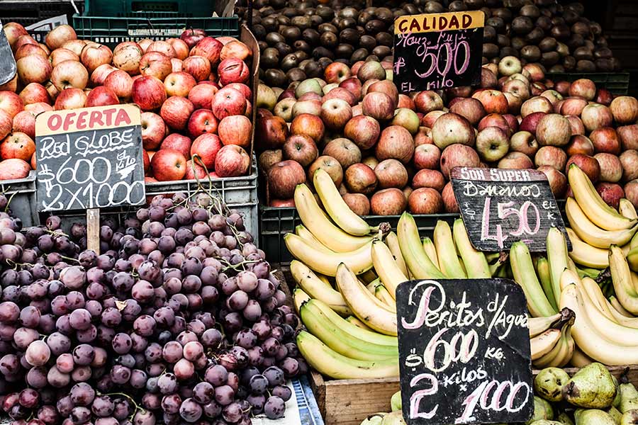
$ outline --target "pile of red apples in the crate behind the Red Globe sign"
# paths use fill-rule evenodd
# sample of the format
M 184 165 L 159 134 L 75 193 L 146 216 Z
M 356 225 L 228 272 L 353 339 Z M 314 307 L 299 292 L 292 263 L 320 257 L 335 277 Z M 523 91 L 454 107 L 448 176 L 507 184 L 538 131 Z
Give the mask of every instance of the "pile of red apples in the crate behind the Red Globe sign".
M 136 103 L 146 180 L 243 176 L 252 142 L 252 52 L 231 37 L 186 30 L 180 38 L 106 45 L 68 25 L 38 43 L 18 23 L 4 32 L 18 72 L 0 86 L 0 180 L 35 169 L 35 115 Z

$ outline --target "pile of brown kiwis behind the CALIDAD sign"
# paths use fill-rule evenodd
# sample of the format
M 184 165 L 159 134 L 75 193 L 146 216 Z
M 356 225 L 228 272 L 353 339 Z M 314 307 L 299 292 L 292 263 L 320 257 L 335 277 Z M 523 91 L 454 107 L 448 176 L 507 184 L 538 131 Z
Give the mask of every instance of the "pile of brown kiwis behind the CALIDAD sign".
M 620 69 L 599 23 L 580 3 L 556 1 L 414 1 L 366 7 L 364 1 L 255 1 L 252 30 L 262 55 L 259 78 L 285 89 L 321 77 L 332 62 L 385 60 L 392 55 L 394 19 L 418 13 L 485 13 L 483 62 L 506 56 L 539 62 L 549 72 Z M 247 10 L 240 11 L 246 20 Z

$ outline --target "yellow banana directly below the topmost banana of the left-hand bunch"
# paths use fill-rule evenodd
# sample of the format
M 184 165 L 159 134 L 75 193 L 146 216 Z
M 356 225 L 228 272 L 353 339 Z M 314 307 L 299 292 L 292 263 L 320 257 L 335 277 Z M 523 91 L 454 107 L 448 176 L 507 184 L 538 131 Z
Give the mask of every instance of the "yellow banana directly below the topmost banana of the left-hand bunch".
M 299 184 L 295 189 L 295 206 L 303 225 L 319 242 L 332 251 L 354 251 L 372 239 L 372 236 L 352 236 L 335 226 L 305 184 Z

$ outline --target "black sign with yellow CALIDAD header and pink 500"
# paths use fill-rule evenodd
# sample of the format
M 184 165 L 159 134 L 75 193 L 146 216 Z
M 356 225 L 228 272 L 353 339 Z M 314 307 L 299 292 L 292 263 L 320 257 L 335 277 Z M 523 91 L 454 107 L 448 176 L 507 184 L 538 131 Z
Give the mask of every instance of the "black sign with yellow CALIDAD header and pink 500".
M 393 81 L 401 93 L 481 82 L 482 11 L 399 16 Z

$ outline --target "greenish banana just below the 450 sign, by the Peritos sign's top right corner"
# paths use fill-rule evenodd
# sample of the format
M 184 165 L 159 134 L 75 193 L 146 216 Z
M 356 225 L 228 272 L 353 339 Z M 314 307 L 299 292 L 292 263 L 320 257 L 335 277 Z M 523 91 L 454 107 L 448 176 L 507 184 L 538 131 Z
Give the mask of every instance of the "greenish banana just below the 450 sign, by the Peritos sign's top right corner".
M 533 317 L 547 317 L 556 314 L 536 277 L 530 249 L 524 242 L 514 242 L 510 248 L 510 266 L 514 280 L 520 285 L 527 298 L 527 309 Z

